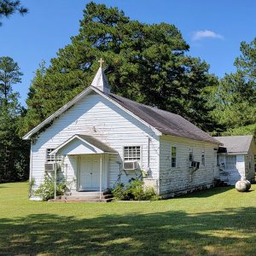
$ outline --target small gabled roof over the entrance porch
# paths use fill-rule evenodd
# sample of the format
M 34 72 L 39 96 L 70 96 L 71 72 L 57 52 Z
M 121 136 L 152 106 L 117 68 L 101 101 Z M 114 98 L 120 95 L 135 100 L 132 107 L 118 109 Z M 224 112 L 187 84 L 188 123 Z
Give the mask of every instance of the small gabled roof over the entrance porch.
M 99 153 L 109 153 L 109 154 L 117 154 L 117 151 L 113 148 L 109 147 L 107 144 L 102 143 L 96 137 L 91 137 L 84 134 L 75 134 L 73 137 L 70 137 L 67 139 L 66 142 L 62 143 L 58 148 L 55 148 L 50 154 L 58 154 L 62 148 L 67 147 L 68 145 L 72 144 L 75 140 L 79 140 L 80 143 L 85 143 L 87 147 L 90 147 L 90 154 L 99 154 Z M 74 149 L 74 148 L 73 148 Z M 81 153 L 81 150 L 79 150 L 79 154 Z M 89 154 L 89 153 L 86 153 Z

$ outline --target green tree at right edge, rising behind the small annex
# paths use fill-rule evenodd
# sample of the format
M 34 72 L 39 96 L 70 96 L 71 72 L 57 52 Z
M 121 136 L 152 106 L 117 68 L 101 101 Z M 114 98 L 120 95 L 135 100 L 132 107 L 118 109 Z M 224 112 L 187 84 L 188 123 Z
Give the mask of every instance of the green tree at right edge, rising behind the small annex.
M 242 42 L 240 49 L 236 73 L 225 74 L 212 97 L 212 116 L 225 126 L 224 134 L 253 133 L 247 127 L 256 124 L 256 38 L 250 44 Z

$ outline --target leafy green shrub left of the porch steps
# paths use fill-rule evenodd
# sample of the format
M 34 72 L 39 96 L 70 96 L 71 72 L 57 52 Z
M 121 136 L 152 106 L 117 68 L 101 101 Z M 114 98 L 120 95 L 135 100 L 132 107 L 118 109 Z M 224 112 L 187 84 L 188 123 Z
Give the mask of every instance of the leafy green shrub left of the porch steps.
M 63 195 L 66 189 L 66 184 L 63 180 L 58 180 L 56 183 L 56 195 Z M 44 183 L 42 183 L 38 190 L 35 191 L 35 195 L 42 198 L 43 201 L 47 201 L 55 197 L 55 179 L 49 176 L 44 177 Z

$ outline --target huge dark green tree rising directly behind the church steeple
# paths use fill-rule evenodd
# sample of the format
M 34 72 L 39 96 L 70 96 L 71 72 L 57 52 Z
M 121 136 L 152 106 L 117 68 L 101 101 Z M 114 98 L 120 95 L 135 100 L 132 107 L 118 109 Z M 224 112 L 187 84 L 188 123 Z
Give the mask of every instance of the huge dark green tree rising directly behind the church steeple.
M 186 55 L 189 45 L 175 26 L 144 24 L 117 8 L 89 3 L 79 34 L 71 39 L 48 68 L 36 72 L 23 132 L 90 85 L 101 57 L 113 93 L 181 114 L 212 130 L 205 90 L 218 81 L 205 61 Z

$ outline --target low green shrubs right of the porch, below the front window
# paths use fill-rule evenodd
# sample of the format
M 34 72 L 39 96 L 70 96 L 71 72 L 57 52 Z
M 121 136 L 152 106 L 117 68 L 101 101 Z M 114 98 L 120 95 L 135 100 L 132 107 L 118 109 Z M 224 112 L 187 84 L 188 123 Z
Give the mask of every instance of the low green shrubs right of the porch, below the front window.
M 135 201 L 155 201 L 160 197 L 156 195 L 153 187 L 144 189 L 142 180 L 136 178 L 128 184 L 118 184 L 112 190 L 113 197 L 117 200 L 135 200 Z

